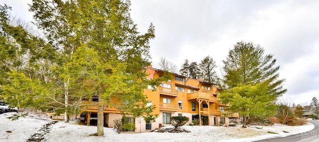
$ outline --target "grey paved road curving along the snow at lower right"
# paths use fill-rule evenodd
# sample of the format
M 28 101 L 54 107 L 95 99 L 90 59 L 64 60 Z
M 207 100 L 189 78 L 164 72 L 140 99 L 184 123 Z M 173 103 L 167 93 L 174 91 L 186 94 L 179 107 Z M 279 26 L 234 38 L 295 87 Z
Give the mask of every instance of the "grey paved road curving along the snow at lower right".
M 315 125 L 312 131 L 255 142 L 319 142 L 319 121 L 309 120 L 309 122 Z

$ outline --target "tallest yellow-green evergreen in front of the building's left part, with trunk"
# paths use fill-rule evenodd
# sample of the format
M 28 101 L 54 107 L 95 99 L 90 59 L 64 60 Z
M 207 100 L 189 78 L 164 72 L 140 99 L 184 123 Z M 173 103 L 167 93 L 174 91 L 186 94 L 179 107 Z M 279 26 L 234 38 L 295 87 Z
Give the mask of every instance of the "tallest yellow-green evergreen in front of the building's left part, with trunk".
M 77 50 L 80 47 L 94 49 L 91 55 L 96 54 L 98 60 L 94 61 L 99 62 L 90 69 L 95 73 L 84 78 L 92 84 L 91 92 L 84 94 L 97 94 L 99 98 L 97 136 L 104 135 L 105 103 L 115 105 L 124 116 L 154 118 L 151 115 L 154 107 L 145 107 L 148 101 L 143 89 L 149 82 L 143 68 L 150 65 L 149 41 L 155 37 L 155 29 L 151 24 L 147 33 L 140 34 L 130 17 L 129 6 L 130 1 L 122 0 L 33 0 L 30 7 L 37 26 L 45 31 L 52 46 L 60 49 L 60 57 L 65 57 L 57 61 L 62 67 L 60 71 L 66 71 L 68 64 L 78 62 L 72 55 L 80 52 Z M 85 53 L 80 57 L 83 56 Z M 85 63 L 81 70 L 88 67 L 91 65 Z M 72 76 L 76 74 L 71 71 L 59 76 L 65 98 L 76 95 L 70 92 L 70 87 L 80 88 L 73 83 L 76 78 Z

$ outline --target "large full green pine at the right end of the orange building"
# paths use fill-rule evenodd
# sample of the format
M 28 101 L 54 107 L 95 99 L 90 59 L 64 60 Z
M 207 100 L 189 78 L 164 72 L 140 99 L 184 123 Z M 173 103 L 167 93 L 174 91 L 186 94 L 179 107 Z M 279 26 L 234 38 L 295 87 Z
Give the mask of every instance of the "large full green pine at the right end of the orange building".
M 226 89 L 221 92 L 219 98 L 224 104 L 232 104 L 231 111 L 243 112 L 241 114 L 244 119 L 243 127 L 246 127 L 250 115 L 268 117 L 275 113 L 276 107 L 274 107 L 273 102 L 287 89 L 282 87 L 284 79 L 278 79 L 279 66 L 275 66 L 276 59 L 273 59 L 273 55 L 264 55 L 264 49 L 259 45 L 238 42 L 234 49 L 229 51 L 226 61 L 223 61 L 223 63 L 223 70 L 226 74 L 222 81 Z M 264 92 L 255 93 L 254 97 L 265 99 L 254 99 L 253 96 L 247 97 L 247 92 L 252 89 L 247 88 L 247 85 L 264 90 Z M 247 90 L 243 91 L 241 88 Z M 237 107 L 233 105 L 238 103 L 241 105 Z M 265 108 L 259 108 L 260 113 L 256 113 L 254 112 L 255 108 L 250 107 L 249 104 L 265 104 Z

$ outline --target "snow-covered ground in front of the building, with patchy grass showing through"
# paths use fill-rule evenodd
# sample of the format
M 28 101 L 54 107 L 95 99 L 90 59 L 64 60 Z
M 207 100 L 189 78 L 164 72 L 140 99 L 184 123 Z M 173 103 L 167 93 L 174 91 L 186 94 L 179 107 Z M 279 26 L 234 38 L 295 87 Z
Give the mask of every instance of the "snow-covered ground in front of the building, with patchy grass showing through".
M 35 115 L 19 118 L 16 121 L 6 118 L 12 114 L 14 113 L 0 114 L 0 142 L 25 142 L 44 124 L 51 122 L 51 120 L 44 119 L 43 116 Z M 76 121 L 70 123 L 61 121 L 53 125 L 51 131 L 45 135 L 43 142 L 251 142 L 307 132 L 312 130 L 314 125 L 285 126 L 275 124 L 263 126 L 263 129 L 241 128 L 240 126 L 183 126 L 182 128 L 191 131 L 191 133 L 118 134 L 112 128 L 104 128 L 105 135 L 96 137 L 92 136 L 96 133 L 96 126 L 78 125 Z M 270 134 L 267 133 L 268 131 L 278 134 Z

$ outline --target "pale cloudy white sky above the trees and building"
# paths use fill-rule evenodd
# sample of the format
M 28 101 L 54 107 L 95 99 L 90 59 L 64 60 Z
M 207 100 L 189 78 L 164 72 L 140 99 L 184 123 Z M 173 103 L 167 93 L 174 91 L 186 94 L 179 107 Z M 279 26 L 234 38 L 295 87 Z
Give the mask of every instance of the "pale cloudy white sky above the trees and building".
M 31 0 L 0 0 L 25 21 Z M 274 55 L 288 89 L 280 100 L 309 105 L 319 99 L 319 0 L 131 0 L 131 17 L 139 31 L 151 23 L 155 39 L 150 54 L 178 68 L 185 59 L 200 63 L 211 56 L 222 61 L 240 41 L 259 44 Z

